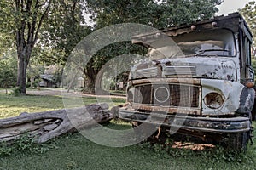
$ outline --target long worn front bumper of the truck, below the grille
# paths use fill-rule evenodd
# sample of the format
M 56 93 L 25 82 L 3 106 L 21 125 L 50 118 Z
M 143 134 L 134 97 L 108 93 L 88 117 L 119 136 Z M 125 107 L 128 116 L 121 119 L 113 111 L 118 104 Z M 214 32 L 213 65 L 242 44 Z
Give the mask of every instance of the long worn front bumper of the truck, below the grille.
M 206 133 L 242 133 L 250 130 L 248 117 L 212 118 L 201 116 L 169 115 L 160 112 L 140 112 L 120 108 L 119 118 L 130 122 L 148 122 L 156 126 L 175 127 Z

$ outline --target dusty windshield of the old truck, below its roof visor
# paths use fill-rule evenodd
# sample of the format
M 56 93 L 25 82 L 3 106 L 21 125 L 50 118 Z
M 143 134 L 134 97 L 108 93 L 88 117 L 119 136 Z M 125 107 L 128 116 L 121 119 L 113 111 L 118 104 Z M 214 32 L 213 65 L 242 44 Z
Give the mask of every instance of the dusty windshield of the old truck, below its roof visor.
M 166 45 L 158 49 L 150 49 L 150 58 L 164 59 L 189 56 L 236 55 L 233 33 L 225 29 L 183 33 L 172 37 L 172 40 L 176 43 L 176 47 L 173 47 L 172 44 L 172 46 Z

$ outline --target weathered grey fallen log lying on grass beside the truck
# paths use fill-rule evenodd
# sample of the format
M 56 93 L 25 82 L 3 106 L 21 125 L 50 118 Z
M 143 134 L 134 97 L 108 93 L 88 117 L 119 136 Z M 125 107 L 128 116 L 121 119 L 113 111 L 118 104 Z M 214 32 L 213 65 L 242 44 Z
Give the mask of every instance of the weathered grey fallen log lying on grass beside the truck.
M 38 143 L 44 143 L 63 133 L 108 122 L 112 118 L 108 104 L 36 113 L 24 112 L 20 116 L 0 119 L 0 142 L 11 141 L 28 133 L 34 136 Z

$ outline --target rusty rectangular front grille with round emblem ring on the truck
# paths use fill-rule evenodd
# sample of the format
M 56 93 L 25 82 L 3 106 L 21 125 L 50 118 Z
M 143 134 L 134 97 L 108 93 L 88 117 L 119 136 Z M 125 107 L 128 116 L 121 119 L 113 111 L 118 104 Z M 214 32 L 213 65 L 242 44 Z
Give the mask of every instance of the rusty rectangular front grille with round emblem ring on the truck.
M 135 87 L 137 104 L 199 107 L 200 87 L 183 84 L 146 84 Z

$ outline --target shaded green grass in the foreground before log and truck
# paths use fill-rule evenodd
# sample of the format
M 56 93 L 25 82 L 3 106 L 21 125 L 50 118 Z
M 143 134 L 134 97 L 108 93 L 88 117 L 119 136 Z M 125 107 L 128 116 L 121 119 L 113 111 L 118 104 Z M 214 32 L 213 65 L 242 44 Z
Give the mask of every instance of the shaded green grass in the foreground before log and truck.
M 125 125 L 127 126 L 127 125 Z M 106 127 L 123 129 L 111 122 Z M 247 153 L 231 155 L 223 150 L 163 150 L 159 145 L 136 144 L 110 148 L 90 142 L 79 133 L 66 134 L 41 146 L 45 153 L 16 150 L 0 158 L 0 169 L 255 169 L 255 144 Z M 41 149 L 41 150 L 42 150 Z

